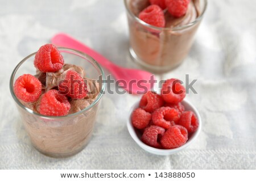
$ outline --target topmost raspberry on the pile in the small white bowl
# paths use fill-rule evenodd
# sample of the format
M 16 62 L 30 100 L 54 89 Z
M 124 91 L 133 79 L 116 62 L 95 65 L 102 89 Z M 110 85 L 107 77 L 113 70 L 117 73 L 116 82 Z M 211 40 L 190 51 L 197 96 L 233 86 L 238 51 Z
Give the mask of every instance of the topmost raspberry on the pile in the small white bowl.
M 156 94 L 156 92 L 148 91 L 141 98 L 139 107 L 147 112 L 154 112 L 156 109 L 162 107 L 164 104 L 163 98 Z

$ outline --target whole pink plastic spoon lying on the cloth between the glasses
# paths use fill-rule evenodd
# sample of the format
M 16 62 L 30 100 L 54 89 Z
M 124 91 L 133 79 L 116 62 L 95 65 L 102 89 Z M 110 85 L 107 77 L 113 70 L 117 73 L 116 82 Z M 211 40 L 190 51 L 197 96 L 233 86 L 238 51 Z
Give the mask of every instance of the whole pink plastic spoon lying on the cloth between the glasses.
M 65 33 L 58 33 L 52 37 L 51 41 L 56 46 L 72 48 L 88 54 L 101 66 L 108 69 L 115 77 L 116 81 L 119 82 L 119 86 L 131 94 L 144 94 L 146 91 L 151 90 L 152 86 L 154 86 L 153 74 L 144 70 L 127 69 L 117 66 L 100 53 L 97 53 L 93 49 L 87 47 Z

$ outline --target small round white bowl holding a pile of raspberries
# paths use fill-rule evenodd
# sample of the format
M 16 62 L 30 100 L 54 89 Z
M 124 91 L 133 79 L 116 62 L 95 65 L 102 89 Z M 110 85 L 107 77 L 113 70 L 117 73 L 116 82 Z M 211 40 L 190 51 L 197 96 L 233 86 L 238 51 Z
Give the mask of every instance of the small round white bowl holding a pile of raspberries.
M 192 142 L 196 140 L 197 136 L 199 135 L 199 133 L 201 131 L 201 127 L 202 127 L 201 116 L 200 116 L 199 112 L 197 111 L 197 109 L 191 103 L 189 103 L 187 100 L 183 100 L 183 102 L 181 102 L 181 103 L 185 107 L 185 111 L 193 111 L 199 121 L 199 127 L 197 128 L 197 131 L 192 133 L 191 135 L 189 135 L 188 141 L 183 146 L 180 146 L 179 148 L 175 148 L 175 149 L 157 149 L 157 148 L 153 148 L 151 146 L 144 144 L 141 141 L 142 134 L 139 133 L 139 131 L 137 131 L 137 129 L 135 129 L 133 127 L 133 124 L 131 124 L 131 113 L 133 113 L 133 111 L 139 107 L 139 102 L 135 103 L 134 106 L 131 107 L 131 110 L 129 112 L 130 116 L 129 116 L 129 119 L 127 120 L 127 128 L 128 128 L 128 131 L 129 131 L 131 137 L 133 138 L 133 140 L 142 149 L 146 150 L 149 153 L 156 154 L 156 155 L 171 155 L 171 154 L 177 153 L 177 152 L 187 148 L 189 145 L 191 145 Z

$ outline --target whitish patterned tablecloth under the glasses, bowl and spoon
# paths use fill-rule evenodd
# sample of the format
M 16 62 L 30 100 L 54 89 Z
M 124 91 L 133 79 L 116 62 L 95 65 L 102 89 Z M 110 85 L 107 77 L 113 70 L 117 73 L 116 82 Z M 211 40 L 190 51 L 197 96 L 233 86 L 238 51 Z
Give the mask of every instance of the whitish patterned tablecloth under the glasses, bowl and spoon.
M 256 169 L 255 7 L 256 1 L 210 0 L 184 64 L 158 76 L 198 79 L 198 94 L 187 99 L 199 109 L 203 129 L 189 148 L 166 157 L 143 151 L 126 128 L 140 97 L 107 94 L 86 149 L 54 159 L 31 146 L 10 95 L 11 71 L 57 32 L 136 68 L 123 1 L 0 0 L 0 169 Z

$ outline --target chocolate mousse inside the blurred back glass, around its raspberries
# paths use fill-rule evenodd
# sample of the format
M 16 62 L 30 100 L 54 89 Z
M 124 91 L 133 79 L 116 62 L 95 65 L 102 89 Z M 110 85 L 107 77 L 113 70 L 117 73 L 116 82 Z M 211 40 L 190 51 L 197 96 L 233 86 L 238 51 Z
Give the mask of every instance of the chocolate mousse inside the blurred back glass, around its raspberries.
M 130 11 L 138 17 L 139 12 L 150 5 L 148 0 L 131 0 Z M 200 0 L 191 0 L 187 13 L 175 18 L 164 11 L 166 28 L 156 32 L 129 19 L 130 44 L 138 58 L 148 65 L 175 68 L 187 56 L 193 43 L 193 35 L 200 23 L 181 30 L 172 30 L 194 22 L 200 15 Z

